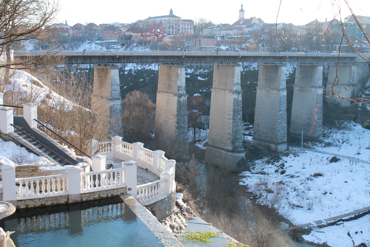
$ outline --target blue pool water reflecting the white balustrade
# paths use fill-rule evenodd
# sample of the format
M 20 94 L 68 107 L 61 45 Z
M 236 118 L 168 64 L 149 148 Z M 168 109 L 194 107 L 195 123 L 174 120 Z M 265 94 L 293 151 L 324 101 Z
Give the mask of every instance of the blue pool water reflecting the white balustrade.
M 105 203 L 17 210 L 0 226 L 16 231 L 11 238 L 18 247 L 163 246 L 126 204 Z

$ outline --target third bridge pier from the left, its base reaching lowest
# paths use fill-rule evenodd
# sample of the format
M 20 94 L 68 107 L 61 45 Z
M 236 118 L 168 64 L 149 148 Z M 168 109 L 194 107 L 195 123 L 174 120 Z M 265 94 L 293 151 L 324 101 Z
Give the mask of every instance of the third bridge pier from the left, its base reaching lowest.
M 242 90 L 239 65 L 215 65 L 209 114 L 206 161 L 240 171 L 245 167 L 242 147 Z

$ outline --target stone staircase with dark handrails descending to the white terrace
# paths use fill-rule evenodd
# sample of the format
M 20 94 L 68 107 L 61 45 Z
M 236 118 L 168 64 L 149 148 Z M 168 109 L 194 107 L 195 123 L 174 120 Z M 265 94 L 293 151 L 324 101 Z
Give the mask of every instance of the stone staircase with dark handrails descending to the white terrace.
M 17 128 L 14 128 L 14 132 L 10 136 L 13 139 L 17 140 L 17 142 L 21 144 L 21 146 L 26 147 L 28 150 L 32 151 L 38 156 L 44 157 L 47 160 L 49 160 L 51 163 L 54 163 L 58 166 L 65 166 L 65 165 L 72 164 L 71 162 L 68 162 L 65 158 L 61 157 L 60 155 L 50 150 L 50 147 L 47 148 L 46 143 L 34 140 L 33 138 L 35 137 L 29 131 L 25 130 L 23 127 L 20 127 L 20 126 L 17 126 L 17 127 L 20 130 L 18 130 Z

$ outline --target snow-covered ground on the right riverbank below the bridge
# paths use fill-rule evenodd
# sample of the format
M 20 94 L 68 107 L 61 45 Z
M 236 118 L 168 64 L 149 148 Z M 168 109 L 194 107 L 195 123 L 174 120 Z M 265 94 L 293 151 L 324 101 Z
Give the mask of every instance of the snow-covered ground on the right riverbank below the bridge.
M 337 128 L 325 129 L 320 141 L 311 143 L 310 148 L 369 161 L 369 140 L 370 130 L 360 124 L 345 122 L 338 123 Z M 265 190 L 279 184 L 284 203 L 282 211 L 296 225 L 370 205 L 369 164 L 300 148 L 288 148 L 280 158 L 263 158 L 253 164 L 252 173 L 245 171 L 241 174 L 245 178 L 240 184 L 253 187 L 262 180 Z M 340 226 L 315 228 L 324 233 L 314 230 L 304 237 L 315 243 L 326 241 L 332 247 L 349 247 L 353 246 L 347 235 L 350 232 L 356 245 L 365 240 L 368 244 L 369 223 L 369 217 L 362 217 Z M 360 234 L 361 230 L 364 234 Z M 356 231 L 359 233 L 355 234 Z

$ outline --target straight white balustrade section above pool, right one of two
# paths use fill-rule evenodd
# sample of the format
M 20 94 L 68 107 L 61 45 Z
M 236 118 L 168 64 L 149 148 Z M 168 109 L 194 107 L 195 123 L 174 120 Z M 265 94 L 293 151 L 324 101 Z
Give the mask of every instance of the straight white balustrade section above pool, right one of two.
M 125 168 L 81 173 L 81 193 L 125 186 Z

